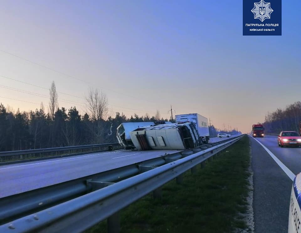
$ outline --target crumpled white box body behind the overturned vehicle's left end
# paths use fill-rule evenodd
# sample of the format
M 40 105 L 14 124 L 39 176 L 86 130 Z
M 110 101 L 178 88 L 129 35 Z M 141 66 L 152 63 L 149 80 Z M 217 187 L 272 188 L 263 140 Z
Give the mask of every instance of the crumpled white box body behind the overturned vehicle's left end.
M 171 124 L 171 122 L 165 122 L 165 124 Z M 138 129 L 143 126 L 149 126 L 149 125 L 156 125 L 156 122 L 150 121 L 150 122 L 124 122 L 121 123 L 117 127 L 117 140 L 121 146 L 124 148 L 132 148 L 134 147 L 132 140 L 131 140 L 131 135 L 130 132 Z

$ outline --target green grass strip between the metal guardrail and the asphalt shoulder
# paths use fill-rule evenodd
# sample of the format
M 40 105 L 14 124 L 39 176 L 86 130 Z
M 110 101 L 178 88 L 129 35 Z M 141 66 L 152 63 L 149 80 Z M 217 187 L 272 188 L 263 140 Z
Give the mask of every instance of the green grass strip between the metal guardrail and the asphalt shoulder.
M 249 139 L 243 137 L 197 173 L 184 173 L 182 185 L 163 186 L 162 200 L 149 194 L 121 211 L 121 232 L 233 232 L 246 229 Z M 107 232 L 106 221 L 87 230 Z

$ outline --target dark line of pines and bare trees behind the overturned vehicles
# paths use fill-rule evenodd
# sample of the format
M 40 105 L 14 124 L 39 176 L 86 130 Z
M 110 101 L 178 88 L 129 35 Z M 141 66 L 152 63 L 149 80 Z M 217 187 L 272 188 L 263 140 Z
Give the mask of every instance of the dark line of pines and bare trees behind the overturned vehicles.
M 55 83 L 49 90 L 50 100 L 46 113 L 43 103 L 34 111 L 16 113 L 0 104 L 0 151 L 16 151 L 62 146 L 78 146 L 117 142 L 117 127 L 123 122 L 171 121 L 163 119 L 157 110 L 155 116 L 149 114 L 132 115 L 109 114 L 108 98 L 105 93 L 91 88 L 86 96 L 86 113 L 80 115 L 77 108 L 66 109 L 58 106 Z M 216 136 L 221 130 L 209 127 L 210 135 Z M 228 132 L 229 133 L 229 132 Z M 235 134 L 236 132 L 230 132 Z

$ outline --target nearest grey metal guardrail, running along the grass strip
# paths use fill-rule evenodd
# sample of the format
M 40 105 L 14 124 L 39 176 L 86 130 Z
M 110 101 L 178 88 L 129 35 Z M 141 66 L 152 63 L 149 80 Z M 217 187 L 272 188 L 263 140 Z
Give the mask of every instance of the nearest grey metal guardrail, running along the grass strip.
M 156 196 L 161 195 L 160 187 L 162 185 L 174 178 L 177 178 L 177 182 L 181 182 L 183 172 L 189 169 L 192 172 L 195 171 L 196 165 L 213 158 L 212 156 L 217 155 L 218 152 L 242 137 L 243 135 L 240 135 L 224 143 L 221 142 L 219 145 L 213 144 L 211 148 L 203 151 L 201 148 L 184 151 L 182 155 L 186 155 L 186 157 L 181 159 L 169 158 L 168 163 L 160 167 L 151 166 L 155 162 L 150 161 L 139 167 L 139 170 L 145 172 L 118 183 L 93 180 L 91 184 L 94 189 L 98 190 L 1 225 L 0 232 L 76 233 L 82 232 L 105 219 L 108 219 L 109 227 L 116 229 L 119 226 L 119 210 L 151 191 L 154 191 Z

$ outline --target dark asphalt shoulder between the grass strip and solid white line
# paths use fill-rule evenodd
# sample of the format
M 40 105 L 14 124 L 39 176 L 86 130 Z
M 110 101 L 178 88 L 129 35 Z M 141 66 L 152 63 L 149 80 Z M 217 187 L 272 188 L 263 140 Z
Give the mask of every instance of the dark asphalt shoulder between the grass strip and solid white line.
M 250 141 L 255 232 L 287 232 L 292 181 L 256 140 Z

